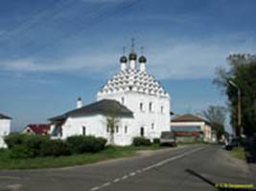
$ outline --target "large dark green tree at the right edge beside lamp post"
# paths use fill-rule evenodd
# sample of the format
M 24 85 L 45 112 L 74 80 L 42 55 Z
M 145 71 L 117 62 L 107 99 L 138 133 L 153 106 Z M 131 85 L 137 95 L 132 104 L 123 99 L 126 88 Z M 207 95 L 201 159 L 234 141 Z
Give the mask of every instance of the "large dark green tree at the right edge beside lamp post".
M 231 54 L 227 57 L 229 70 L 219 68 L 214 83 L 222 88 L 228 97 L 230 108 L 230 123 L 237 136 L 251 136 L 256 132 L 256 55 Z M 232 81 L 241 91 L 242 121 L 238 125 L 238 90 L 230 83 Z

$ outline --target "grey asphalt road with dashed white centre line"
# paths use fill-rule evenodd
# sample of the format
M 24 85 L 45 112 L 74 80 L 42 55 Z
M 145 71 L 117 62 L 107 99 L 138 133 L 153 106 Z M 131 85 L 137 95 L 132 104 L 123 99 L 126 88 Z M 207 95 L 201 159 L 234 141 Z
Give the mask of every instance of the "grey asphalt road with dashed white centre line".
M 256 184 L 256 175 L 217 145 L 166 149 L 70 168 L 0 171 L 1 191 L 216 190 L 216 182 Z

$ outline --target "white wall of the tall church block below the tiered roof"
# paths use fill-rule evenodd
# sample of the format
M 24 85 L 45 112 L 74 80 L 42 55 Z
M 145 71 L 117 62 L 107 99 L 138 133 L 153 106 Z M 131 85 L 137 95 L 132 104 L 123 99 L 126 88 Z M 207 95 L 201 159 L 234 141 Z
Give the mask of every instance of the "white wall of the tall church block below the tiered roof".
M 123 97 L 123 98 L 122 98 Z M 160 138 L 163 131 L 170 131 L 170 99 L 164 96 L 151 96 L 137 92 L 115 93 L 98 96 L 97 99 L 114 99 L 128 107 L 133 112 L 134 119 L 131 121 L 131 137 L 140 136 L 140 128 L 144 128 L 145 138 Z M 122 101 L 124 100 L 124 102 Z M 150 111 L 150 102 L 152 110 Z M 143 110 L 140 110 L 140 103 Z M 161 111 L 163 107 L 163 112 Z M 153 124 L 153 128 L 152 128 Z

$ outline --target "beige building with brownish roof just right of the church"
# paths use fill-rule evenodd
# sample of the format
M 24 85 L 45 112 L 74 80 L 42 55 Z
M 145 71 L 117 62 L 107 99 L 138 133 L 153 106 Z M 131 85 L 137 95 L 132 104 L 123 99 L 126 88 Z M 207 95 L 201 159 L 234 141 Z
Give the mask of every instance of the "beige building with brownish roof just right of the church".
M 202 117 L 190 114 L 174 117 L 171 129 L 179 137 L 198 137 L 206 142 L 213 141 L 210 123 Z

